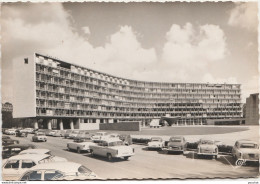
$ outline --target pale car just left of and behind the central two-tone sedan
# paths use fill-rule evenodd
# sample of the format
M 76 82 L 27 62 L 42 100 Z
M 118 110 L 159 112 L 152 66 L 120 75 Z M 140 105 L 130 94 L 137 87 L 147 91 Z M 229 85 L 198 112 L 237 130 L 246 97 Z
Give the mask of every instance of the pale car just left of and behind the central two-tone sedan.
M 96 145 L 96 143 L 92 142 L 90 138 L 88 139 L 74 139 L 73 142 L 67 143 L 68 150 L 76 150 L 78 153 L 83 151 L 89 151 L 90 145 Z

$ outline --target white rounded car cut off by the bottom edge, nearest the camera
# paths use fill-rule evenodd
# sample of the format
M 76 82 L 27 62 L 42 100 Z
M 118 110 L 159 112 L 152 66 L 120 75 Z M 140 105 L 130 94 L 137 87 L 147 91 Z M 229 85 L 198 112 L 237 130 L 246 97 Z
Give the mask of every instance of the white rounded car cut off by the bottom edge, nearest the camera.
M 85 166 L 74 162 L 45 163 L 32 167 L 19 179 L 21 181 L 87 180 L 98 179 Z

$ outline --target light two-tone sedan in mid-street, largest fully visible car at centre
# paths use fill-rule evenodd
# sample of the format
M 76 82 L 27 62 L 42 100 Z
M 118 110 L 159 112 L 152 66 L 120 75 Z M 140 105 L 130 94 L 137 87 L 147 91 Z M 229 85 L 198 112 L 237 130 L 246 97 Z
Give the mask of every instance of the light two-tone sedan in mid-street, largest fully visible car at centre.
M 100 141 L 97 145 L 90 145 L 89 148 L 91 155 L 107 157 L 109 161 L 113 158 L 128 160 L 134 155 L 134 148 L 124 145 L 123 141 L 118 139 Z

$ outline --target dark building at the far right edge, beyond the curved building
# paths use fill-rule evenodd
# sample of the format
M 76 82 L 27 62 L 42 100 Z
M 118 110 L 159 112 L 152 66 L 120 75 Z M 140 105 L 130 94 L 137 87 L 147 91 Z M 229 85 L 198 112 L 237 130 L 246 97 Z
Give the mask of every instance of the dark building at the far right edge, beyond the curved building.
M 251 94 L 246 99 L 246 124 L 259 124 L 259 93 Z

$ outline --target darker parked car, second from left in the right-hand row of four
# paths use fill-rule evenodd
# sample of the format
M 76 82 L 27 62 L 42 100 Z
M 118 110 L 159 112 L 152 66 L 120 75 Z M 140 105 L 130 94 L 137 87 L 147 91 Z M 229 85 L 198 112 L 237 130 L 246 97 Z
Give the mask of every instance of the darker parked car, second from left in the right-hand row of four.
M 169 142 L 165 150 L 167 153 L 171 152 L 184 152 L 187 147 L 187 142 L 183 136 L 170 137 Z

